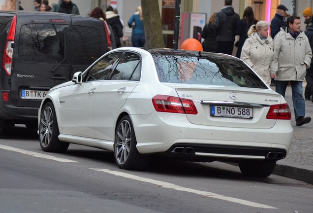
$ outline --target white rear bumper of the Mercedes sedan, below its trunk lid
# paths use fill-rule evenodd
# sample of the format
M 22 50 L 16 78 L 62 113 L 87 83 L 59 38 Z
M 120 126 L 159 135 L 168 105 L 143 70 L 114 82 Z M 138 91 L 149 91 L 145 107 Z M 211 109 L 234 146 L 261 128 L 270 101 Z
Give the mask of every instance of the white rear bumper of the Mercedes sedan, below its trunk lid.
M 276 152 L 281 158 L 292 142 L 290 120 L 278 120 L 273 128 L 260 129 L 196 125 L 188 122 L 185 114 L 173 113 L 131 115 L 131 119 L 141 154 L 196 147 L 194 155 L 198 156 L 265 159 L 269 152 Z

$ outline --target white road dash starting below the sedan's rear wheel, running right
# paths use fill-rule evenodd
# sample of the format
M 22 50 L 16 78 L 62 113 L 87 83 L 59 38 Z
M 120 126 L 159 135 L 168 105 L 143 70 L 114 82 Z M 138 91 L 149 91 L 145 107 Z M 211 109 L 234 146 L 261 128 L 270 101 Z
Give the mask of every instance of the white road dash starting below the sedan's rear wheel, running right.
M 246 201 L 246 200 L 242 200 L 242 199 L 238 199 L 238 198 L 233 198 L 233 197 L 227 197 L 227 196 L 215 194 L 212 192 L 200 191 L 200 190 L 191 189 L 191 188 L 185 188 L 185 187 L 181 187 L 179 185 L 175 185 L 172 183 L 158 181 L 158 180 L 150 179 L 150 178 L 142 178 L 139 176 L 134 176 L 134 175 L 130 175 L 130 174 L 123 173 L 123 172 L 110 171 L 108 169 L 93 169 L 93 168 L 90 168 L 90 170 L 105 172 L 105 173 L 109 173 L 109 174 L 112 174 L 115 176 L 121 176 L 124 178 L 130 178 L 130 179 L 134 179 L 134 180 L 139 180 L 139 181 L 143 181 L 143 182 L 156 184 L 156 185 L 164 187 L 164 188 L 174 189 L 174 190 L 178 190 L 178 191 L 191 192 L 191 193 L 195 193 L 195 194 L 207 197 L 207 198 L 216 198 L 216 199 L 229 201 L 229 202 L 233 202 L 233 203 L 238 203 L 238 204 L 242 204 L 242 205 L 246 205 L 246 206 L 250 206 L 250 207 L 263 208 L 263 209 L 277 209 L 275 207 L 271 207 L 271 206 L 267 206 L 267 205 L 263 205 L 263 204 L 258 204 L 258 203 L 254 203 L 254 202 L 250 202 L 250 201 Z

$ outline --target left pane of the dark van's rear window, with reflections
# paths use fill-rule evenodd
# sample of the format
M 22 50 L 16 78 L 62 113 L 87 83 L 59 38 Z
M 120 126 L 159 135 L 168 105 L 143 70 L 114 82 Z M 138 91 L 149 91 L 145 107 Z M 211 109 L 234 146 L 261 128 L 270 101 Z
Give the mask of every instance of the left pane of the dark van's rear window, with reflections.
M 19 58 L 24 62 L 59 64 L 65 58 L 68 25 L 23 25 L 19 40 Z

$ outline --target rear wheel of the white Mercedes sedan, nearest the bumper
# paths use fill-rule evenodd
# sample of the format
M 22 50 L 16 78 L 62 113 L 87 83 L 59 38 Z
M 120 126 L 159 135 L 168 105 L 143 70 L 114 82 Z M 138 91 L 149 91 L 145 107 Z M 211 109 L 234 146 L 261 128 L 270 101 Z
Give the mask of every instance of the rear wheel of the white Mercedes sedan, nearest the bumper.
M 130 117 L 125 115 L 115 133 L 114 158 L 120 169 L 141 170 L 148 166 L 148 157 L 136 148 L 136 137 Z

